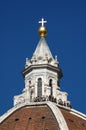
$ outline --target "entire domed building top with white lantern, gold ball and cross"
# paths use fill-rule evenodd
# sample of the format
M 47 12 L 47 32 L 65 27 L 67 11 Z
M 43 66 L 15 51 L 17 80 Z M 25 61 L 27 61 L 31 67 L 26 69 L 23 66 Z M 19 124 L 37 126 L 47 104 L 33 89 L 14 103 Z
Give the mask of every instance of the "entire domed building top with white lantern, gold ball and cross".
M 39 23 L 40 41 L 22 72 L 25 88 L 0 116 L 0 130 L 86 130 L 86 115 L 74 110 L 67 92 L 60 90 L 62 71 L 45 40 L 46 21 Z

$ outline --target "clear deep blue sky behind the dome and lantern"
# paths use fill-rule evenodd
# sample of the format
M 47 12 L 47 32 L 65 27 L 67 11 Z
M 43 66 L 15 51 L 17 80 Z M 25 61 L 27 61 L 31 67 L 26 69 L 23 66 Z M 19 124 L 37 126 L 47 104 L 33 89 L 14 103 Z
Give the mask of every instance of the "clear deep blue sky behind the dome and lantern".
M 86 1 L 1 0 L 0 115 L 24 88 L 21 72 L 40 39 L 42 17 L 48 21 L 47 43 L 63 71 L 61 90 L 68 92 L 74 109 L 86 113 Z

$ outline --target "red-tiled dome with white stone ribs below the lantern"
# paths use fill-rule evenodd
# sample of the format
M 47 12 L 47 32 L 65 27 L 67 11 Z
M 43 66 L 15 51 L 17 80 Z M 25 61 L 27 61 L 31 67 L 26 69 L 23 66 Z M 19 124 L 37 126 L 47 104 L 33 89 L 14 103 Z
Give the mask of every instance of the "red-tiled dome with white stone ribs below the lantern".
M 0 130 L 86 130 L 86 116 L 50 101 L 24 104 L 1 117 Z

